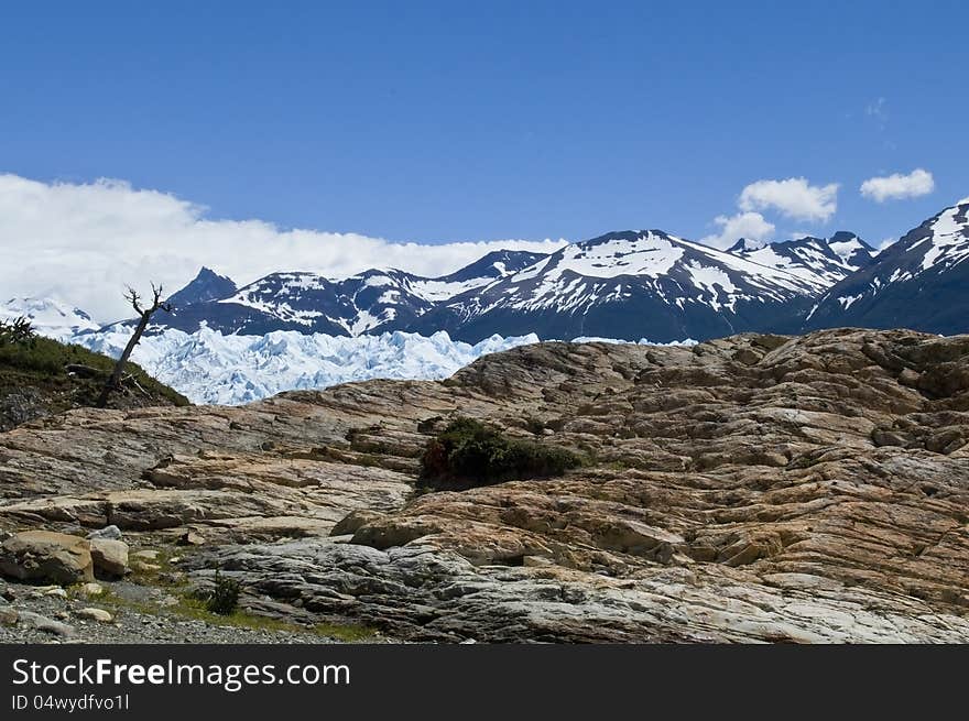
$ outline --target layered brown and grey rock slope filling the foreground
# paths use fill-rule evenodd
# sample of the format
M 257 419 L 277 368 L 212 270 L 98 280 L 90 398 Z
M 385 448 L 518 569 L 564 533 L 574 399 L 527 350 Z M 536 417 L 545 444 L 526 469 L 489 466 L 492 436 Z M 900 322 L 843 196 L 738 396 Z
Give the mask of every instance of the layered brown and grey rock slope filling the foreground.
M 417 492 L 456 416 L 583 466 Z M 45 565 L 11 535 L 0 567 L 73 568 L 54 581 L 66 622 L 104 608 L 94 627 L 119 640 L 134 612 L 174 624 L 165 608 L 218 568 L 253 616 L 402 641 L 967 642 L 967 336 L 540 343 L 440 382 L 81 408 L 0 434 L 0 529 L 74 536 Z M 106 526 L 123 580 L 85 539 Z M 95 576 L 113 605 L 78 599 Z M 131 586 L 157 600 L 126 605 Z M 26 638 L 23 614 L 51 601 L 11 588 L 0 619 Z

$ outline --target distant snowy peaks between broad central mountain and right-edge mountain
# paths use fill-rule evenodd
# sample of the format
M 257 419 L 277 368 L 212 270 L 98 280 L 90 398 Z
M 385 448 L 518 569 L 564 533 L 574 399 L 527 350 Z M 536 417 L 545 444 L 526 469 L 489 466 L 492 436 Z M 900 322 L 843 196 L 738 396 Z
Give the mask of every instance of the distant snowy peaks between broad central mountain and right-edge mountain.
M 741 238 L 728 252 L 785 271 L 821 293 L 871 263 L 874 249 L 854 233 L 839 231 L 829 239 L 807 236 L 780 243 Z

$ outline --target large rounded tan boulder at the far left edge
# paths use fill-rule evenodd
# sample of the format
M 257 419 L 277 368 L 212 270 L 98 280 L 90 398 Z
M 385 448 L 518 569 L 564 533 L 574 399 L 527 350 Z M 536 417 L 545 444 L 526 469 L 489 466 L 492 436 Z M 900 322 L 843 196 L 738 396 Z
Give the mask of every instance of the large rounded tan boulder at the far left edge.
M 90 543 L 51 531 L 24 531 L 0 545 L 0 572 L 25 581 L 94 580 Z

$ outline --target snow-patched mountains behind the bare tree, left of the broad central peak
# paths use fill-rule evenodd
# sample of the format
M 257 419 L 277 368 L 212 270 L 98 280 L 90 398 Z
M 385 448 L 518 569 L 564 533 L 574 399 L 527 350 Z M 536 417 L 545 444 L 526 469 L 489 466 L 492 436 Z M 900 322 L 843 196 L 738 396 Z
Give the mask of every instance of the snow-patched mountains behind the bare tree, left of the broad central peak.
M 207 327 L 243 335 L 295 330 L 359 336 L 393 330 L 410 325 L 435 303 L 487 285 L 540 258 L 524 251 L 497 251 L 435 278 L 398 270 L 368 270 L 342 280 L 307 272 L 272 273 L 241 288 L 203 269 L 168 298 L 174 312 L 157 314 L 151 332 L 165 328 L 193 332 Z

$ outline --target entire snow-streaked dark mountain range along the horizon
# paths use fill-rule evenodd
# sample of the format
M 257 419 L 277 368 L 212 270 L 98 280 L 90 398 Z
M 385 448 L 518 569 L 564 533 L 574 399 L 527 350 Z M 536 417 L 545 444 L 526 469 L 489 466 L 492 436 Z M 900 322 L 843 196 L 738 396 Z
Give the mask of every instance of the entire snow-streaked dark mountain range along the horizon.
M 237 287 L 204 267 L 168 298 L 174 312 L 156 314 L 150 332 L 444 330 L 468 343 L 529 334 L 671 342 L 837 326 L 955 334 L 969 331 L 967 256 L 969 198 L 882 252 L 847 231 L 771 244 L 740 239 L 725 251 L 652 229 L 610 232 L 551 254 L 491 252 L 439 277 L 372 269 L 335 280 L 292 271 Z M 12 301 L 6 315 L 39 304 Z M 70 308 L 61 304 L 36 315 L 73 332 L 95 330 L 83 312 L 74 319 L 65 313 Z

